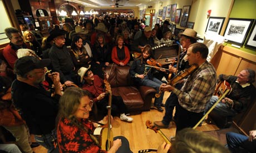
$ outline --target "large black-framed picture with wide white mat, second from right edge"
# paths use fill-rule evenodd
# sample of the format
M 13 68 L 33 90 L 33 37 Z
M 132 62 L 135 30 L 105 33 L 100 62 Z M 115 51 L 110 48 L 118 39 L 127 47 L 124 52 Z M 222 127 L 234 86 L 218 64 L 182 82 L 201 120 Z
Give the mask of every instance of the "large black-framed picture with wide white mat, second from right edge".
M 242 45 L 244 43 L 253 19 L 229 18 L 228 26 L 225 30 L 224 38 L 231 43 Z

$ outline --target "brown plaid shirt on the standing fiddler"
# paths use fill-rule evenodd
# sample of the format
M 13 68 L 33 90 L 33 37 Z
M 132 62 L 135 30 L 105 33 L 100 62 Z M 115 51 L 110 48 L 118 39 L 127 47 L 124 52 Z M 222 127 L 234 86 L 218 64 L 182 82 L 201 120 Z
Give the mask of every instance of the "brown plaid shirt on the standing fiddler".
M 206 103 L 213 95 L 216 81 L 213 65 L 205 62 L 189 75 L 181 90 L 175 88 L 173 93 L 178 96 L 179 104 L 184 109 L 200 113 L 205 110 Z

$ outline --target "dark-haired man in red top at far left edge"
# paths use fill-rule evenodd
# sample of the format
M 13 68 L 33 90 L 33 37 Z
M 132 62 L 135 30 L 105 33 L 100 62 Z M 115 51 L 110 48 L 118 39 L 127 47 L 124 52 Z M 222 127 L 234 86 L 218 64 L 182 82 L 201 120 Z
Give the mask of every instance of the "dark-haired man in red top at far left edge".
M 13 70 L 14 63 L 18 59 L 17 50 L 19 48 L 28 48 L 27 45 L 23 41 L 22 35 L 19 33 L 19 30 L 16 28 L 6 28 L 4 29 L 7 37 L 11 41 L 4 49 L 3 49 L 3 57 L 6 59 L 8 67 Z

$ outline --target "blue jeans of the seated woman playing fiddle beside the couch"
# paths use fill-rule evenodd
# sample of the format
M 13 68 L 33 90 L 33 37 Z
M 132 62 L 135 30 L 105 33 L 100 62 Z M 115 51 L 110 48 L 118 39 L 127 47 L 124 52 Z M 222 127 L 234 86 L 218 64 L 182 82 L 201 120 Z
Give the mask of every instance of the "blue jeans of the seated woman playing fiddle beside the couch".
M 152 78 L 151 80 L 146 76 L 144 79 L 141 80 L 141 84 L 145 86 L 150 86 L 154 89 L 156 89 L 156 92 L 159 93 L 160 85 L 163 84 L 162 81 L 156 78 Z M 161 93 L 159 98 L 155 98 L 154 105 L 156 107 L 161 107 L 161 103 L 163 101 L 164 92 Z

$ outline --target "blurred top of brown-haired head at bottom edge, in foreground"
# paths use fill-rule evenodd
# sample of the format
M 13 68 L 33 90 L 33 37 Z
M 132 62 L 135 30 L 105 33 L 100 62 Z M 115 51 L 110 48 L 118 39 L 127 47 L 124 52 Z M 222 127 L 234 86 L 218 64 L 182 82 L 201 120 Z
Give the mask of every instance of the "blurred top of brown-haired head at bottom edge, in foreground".
M 228 153 L 229 150 L 212 136 L 198 130 L 186 128 L 176 135 L 175 141 L 171 146 L 171 152 Z

